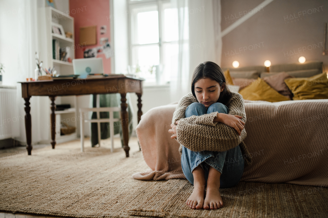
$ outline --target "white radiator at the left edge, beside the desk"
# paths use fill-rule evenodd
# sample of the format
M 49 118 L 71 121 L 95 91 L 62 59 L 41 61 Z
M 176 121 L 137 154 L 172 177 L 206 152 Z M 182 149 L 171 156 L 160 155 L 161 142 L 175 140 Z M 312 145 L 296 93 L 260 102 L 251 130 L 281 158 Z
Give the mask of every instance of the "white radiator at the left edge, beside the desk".
M 13 123 L 19 119 L 14 117 L 16 98 L 16 88 L 0 86 L 0 140 L 13 136 Z

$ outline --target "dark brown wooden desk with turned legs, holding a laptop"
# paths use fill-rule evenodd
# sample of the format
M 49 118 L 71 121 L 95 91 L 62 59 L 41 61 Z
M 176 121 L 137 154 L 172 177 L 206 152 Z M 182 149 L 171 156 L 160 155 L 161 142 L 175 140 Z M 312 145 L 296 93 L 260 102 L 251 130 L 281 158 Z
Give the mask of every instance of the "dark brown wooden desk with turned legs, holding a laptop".
M 31 114 L 30 114 L 30 98 L 31 96 L 49 96 L 51 100 L 51 146 L 55 148 L 55 97 L 68 95 L 90 95 L 90 94 L 121 94 L 121 122 L 123 131 L 123 149 L 126 157 L 129 156 L 129 115 L 126 110 L 126 93 L 135 92 L 138 96 L 138 123 L 140 121 L 141 111 L 141 95 L 142 95 L 143 79 L 135 79 L 125 76 L 109 76 L 100 79 L 71 79 L 71 80 L 42 80 L 20 82 L 22 84 L 22 97 L 25 100 L 25 130 L 26 130 L 26 149 L 31 155 Z

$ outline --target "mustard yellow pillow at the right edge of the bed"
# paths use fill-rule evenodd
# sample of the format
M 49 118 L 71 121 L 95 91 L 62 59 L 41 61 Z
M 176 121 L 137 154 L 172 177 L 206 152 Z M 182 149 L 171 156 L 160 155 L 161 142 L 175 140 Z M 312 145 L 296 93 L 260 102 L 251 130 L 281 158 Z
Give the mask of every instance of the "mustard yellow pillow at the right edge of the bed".
M 326 73 L 312 77 L 289 78 L 284 82 L 294 94 L 293 100 L 328 99 L 328 78 Z

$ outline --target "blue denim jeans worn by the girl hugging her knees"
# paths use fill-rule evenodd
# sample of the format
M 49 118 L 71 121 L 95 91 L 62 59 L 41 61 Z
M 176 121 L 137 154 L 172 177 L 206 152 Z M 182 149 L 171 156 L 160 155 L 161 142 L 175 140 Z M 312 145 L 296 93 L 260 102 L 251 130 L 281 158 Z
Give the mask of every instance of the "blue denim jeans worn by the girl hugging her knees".
M 211 104 L 208 109 L 198 102 L 190 104 L 186 109 L 186 117 L 192 115 L 200 116 L 213 112 L 228 114 L 229 109 L 222 103 Z M 205 172 L 205 181 L 207 184 L 209 167 L 221 173 L 220 188 L 229 188 L 236 185 L 244 172 L 244 159 L 239 145 L 228 151 L 200 151 L 194 152 L 182 146 L 181 166 L 183 174 L 188 181 L 194 185 L 193 170 L 200 165 Z

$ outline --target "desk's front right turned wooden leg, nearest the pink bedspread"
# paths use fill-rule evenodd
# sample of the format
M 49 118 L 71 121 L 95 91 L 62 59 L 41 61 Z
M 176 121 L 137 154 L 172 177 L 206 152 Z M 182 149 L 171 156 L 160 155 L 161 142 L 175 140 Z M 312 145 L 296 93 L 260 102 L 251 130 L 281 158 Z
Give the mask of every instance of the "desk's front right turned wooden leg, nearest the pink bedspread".
M 121 122 L 122 122 L 122 132 L 123 132 L 123 149 L 125 151 L 126 157 L 129 157 L 129 114 L 126 111 L 128 104 L 126 103 L 126 93 L 121 93 Z

